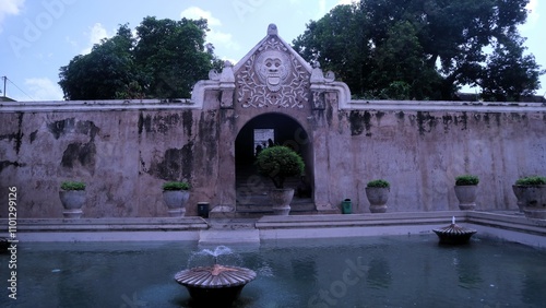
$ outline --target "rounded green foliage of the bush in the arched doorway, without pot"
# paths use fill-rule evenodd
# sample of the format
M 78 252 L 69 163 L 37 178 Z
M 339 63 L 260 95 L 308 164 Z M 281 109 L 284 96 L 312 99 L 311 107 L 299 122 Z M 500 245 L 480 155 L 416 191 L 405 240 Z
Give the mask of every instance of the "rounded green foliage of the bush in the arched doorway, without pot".
M 288 177 L 300 176 L 305 171 L 301 157 L 287 146 L 271 146 L 258 154 L 256 165 L 261 175 L 269 177 L 276 188 L 284 188 Z

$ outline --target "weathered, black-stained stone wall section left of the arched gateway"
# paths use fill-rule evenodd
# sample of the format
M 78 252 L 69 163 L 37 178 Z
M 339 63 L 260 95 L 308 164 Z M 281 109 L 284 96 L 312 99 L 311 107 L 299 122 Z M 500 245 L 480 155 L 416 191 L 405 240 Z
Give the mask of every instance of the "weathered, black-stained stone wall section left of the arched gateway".
M 154 109 L 138 103 L 57 104 L 62 111 L 21 104 L 14 107 L 21 111 L 0 112 L 0 189 L 17 188 L 20 217 L 61 217 L 63 180 L 87 183 L 84 217 L 167 216 L 161 188 L 166 180 L 189 180 L 193 204 L 215 199 L 216 110 L 176 103 L 152 104 Z

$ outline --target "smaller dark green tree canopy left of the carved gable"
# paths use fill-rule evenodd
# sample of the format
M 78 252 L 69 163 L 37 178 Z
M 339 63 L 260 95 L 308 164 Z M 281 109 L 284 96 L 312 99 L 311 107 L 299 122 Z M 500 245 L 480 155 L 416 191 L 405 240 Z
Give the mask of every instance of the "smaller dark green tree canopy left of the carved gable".
M 157 20 L 117 34 L 60 68 L 66 99 L 189 97 L 191 87 L 219 60 L 205 50 L 206 20 Z

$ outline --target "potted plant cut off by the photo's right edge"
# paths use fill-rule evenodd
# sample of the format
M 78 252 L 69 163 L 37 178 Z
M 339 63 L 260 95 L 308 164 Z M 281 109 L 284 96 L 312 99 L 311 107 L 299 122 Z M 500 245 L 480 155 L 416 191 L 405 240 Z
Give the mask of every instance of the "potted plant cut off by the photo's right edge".
M 546 177 L 522 177 L 512 186 L 518 206 L 526 217 L 546 220 Z

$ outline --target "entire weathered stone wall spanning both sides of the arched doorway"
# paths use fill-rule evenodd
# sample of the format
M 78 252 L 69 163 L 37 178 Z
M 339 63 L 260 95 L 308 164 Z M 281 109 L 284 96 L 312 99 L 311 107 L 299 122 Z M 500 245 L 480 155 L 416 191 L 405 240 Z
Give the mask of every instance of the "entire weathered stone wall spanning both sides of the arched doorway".
M 67 179 L 87 182 L 85 217 L 166 216 L 161 186 L 179 179 L 193 187 L 188 215 L 198 201 L 235 206 L 235 139 L 260 112 L 221 109 L 219 96 L 206 92 L 200 108 L 12 103 L 19 107 L 0 112 L 0 189 L 17 187 L 20 217 L 61 217 Z M 368 212 L 364 188 L 376 178 L 391 182 L 389 211 L 456 210 L 454 177 L 465 173 L 480 178 L 479 210 L 515 209 L 513 181 L 546 174 L 543 106 L 329 102 L 294 117 L 311 135 L 319 210 L 351 198 L 355 212 Z

